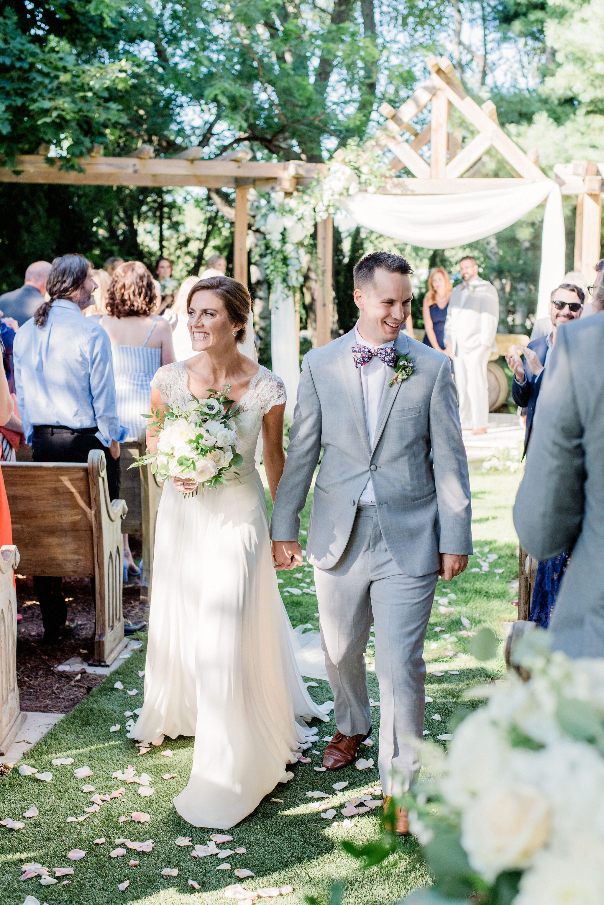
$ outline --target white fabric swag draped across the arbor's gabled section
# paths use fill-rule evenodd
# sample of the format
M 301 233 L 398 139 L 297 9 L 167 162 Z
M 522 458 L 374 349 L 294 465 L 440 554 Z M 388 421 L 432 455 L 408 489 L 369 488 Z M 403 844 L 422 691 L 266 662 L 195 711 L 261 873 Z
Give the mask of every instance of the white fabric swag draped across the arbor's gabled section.
M 537 317 L 547 314 L 550 292 L 564 276 L 565 236 L 560 186 L 552 179 L 530 185 L 453 195 L 370 195 L 339 199 L 352 221 L 420 248 L 455 248 L 499 233 L 547 198 Z M 349 219 L 350 218 L 350 219 Z M 344 224 L 343 224 L 344 225 Z

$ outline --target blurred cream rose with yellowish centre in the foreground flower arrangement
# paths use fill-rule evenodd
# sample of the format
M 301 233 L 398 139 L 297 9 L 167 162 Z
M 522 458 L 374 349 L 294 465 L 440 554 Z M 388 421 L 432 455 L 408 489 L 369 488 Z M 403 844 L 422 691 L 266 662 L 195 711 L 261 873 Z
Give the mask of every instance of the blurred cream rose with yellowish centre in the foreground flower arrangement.
M 501 782 L 467 807 L 461 844 L 475 871 L 491 883 L 502 871 L 529 867 L 548 843 L 551 827 L 547 795 L 533 786 Z

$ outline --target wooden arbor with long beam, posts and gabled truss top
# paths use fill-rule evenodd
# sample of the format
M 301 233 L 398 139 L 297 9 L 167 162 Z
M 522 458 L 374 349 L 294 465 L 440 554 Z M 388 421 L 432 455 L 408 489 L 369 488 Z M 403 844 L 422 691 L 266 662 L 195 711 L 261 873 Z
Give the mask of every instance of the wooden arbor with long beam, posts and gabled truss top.
M 431 75 L 399 110 L 383 104 L 388 119 L 385 129 L 373 139 L 373 147 L 390 148 L 395 159 L 384 164 L 385 195 L 448 195 L 479 190 L 528 185 L 547 178 L 537 166 L 536 155 L 525 154 L 497 122 L 492 101 L 479 106 L 463 89 L 454 68 L 445 57 L 429 57 Z M 431 105 L 429 124 L 420 132 L 411 119 Z M 461 147 L 461 136 L 449 128 L 451 107 L 457 108 L 477 130 L 477 136 Z M 411 140 L 406 140 L 409 135 Z M 429 161 L 419 153 L 429 144 Z M 472 176 L 472 167 L 489 148 L 495 148 L 514 176 L 484 178 Z M 265 163 L 251 161 L 250 152 L 232 151 L 212 160 L 201 159 L 201 148 L 186 148 L 175 157 L 156 158 L 154 148 L 142 145 L 128 157 L 103 157 L 95 146 L 90 157 L 81 158 L 79 170 L 61 170 L 56 158 L 44 154 L 17 157 L 14 168 L 0 167 L 0 182 L 48 183 L 52 185 L 104 186 L 203 186 L 235 189 L 235 279 L 247 284 L 248 232 L 247 201 L 250 187 L 294 192 L 316 175 L 325 172 L 321 164 L 302 161 Z M 42 149 L 41 149 L 42 150 Z M 532 158 L 533 157 L 533 158 Z M 601 165 L 604 169 L 604 165 Z M 411 177 L 396 174 L 406 167 Z M 469 172 L 468 172 L 469 171 Z M 577 195 L 575 270 L 593 282 L 594 266 L 599 260 L 601 195 L 604 183 L 596 164 L 585 161 L 554 167 L 563 195 Z M 331 338 L 332 325 L 332 252 L 333 221 L 329 217 L 317 224 L 317 298 L 316 345 Z

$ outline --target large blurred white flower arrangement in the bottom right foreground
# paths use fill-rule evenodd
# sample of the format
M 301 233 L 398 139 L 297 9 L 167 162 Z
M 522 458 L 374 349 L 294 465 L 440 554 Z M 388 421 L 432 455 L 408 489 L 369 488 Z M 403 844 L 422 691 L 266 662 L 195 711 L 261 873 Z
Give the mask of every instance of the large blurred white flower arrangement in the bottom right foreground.
M 489 686 L 446 757 L 423 749 L 440 776 L 407 804 L 436 887 L 409 905 L 604 902 L 604 660 L 542 639 L 524 648 L 529 681 Z

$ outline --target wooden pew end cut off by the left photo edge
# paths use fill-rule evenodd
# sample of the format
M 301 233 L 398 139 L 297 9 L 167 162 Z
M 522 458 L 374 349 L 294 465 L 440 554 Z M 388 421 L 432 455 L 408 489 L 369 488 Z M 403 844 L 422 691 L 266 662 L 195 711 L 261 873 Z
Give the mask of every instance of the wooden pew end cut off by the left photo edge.
M 0 548 L 0 756 L 10 748 L 25 722 L 17 687 L 17 597 L 13 570 L 19 565 L 14 546 Z

